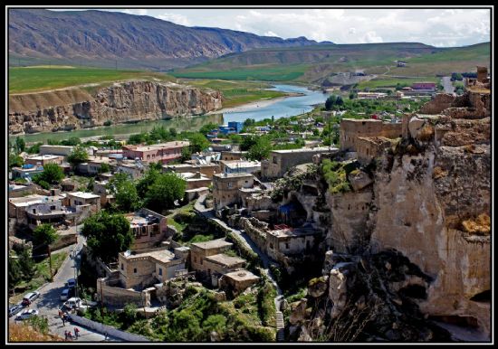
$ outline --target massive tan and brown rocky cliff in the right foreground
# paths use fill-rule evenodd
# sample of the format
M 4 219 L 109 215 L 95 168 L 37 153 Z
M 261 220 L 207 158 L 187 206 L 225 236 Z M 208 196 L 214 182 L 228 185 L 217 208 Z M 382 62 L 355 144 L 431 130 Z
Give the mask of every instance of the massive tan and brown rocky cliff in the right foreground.
M 326 193 L 328 294 L 313 297 L 309 289 L 308 302 L 321 306 L 302 315 L 298 338 L 337 338 L 330 326 L 340 326 L 334 321 L 346 312 L 352 317 L 343 318 L 342 325 L 354 325 L 357 316 L 365 326 L 358 338 L 364 340 L 448 339 L 434 321 L 462 325 L 474 338 L 489 339 L 488 100 L 489 94 L 474 92 L 436 99 L 424 111 L 440 114 L 407 117 L 405 137 L 369 166 L 351 171 L 350 191 Z M 435 106 L 438 101 L 445 108 Z M 362 312 L 365 307 L 370 314 Z M 299 313 L 301 306 L 294 308 Z M 407 329 L 410 321 L 418 325 Z

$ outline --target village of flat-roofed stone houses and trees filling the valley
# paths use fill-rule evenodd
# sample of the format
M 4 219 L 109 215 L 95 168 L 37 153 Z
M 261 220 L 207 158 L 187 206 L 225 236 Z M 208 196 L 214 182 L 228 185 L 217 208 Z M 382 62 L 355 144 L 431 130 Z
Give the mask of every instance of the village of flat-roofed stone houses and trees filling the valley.
M 477 71 L 477 79 L 465 80 L 466 90 L 489 89 L 487 71 Z M 415 101 L 422 107 L 396 104 L 407 96 L 422 98 Z M 357 96 L 372 102 L 386 97 Z M 71 298 L 76 305 L 68 310 L 79 324 L 86 324 L 81 320 L 88 317 L 86 307 L 123 311 L 133 304 L 148 319 L 181 307 L 192 292 L 207 292 L 216 302 L 257 294 L 263 297 L 257 325 L 266 332 L 253 339 L 283 341 L 284 323 L 289 317 L 292 325 L 298 323 L 290 316 L 292 300 L 301 299 L 291 297 L 301 292 L 292 288 L 293 280 L 307 288 L 309 279 L 321 276 L 330 246 L 348 250 L 350 236 L 333 241 L 336 228 L 325 207 L 331 199 L 317 171 L 325 173 L 324 166 L 340 158 L 344 170 L 332 164 L 326 177 L 330 191 L 360 192 L 373 183 L 369 169 L 376 158 L 404 139 L 426 140 L 424 127 L 444 109 L 431 110 L 431 100 L 450 108 L 457 98 L 436 94 L 436 84 L 428 82 L 389 97 L 394 111 L 369 107 L 349 118 L 350 111 L 336 103 L 287 121 L 269 116 L 263 122 L 211 125 L 201 130 L 202 139 L 169 130 L 154 142 L 43 144 L 35 154 L 25 151 L 33 145 L 11 145 L 18 156 L 8 184 L 11 258 L 20 259 L 19 246 L 49 258 L 68 247 L 79 253 L 73 257 L 74 287 L 56 288 L 52 306 L 40 307 L 40 314 L 56 314 Z M 427 137 L 437 144 L 451 131 L 436 127 Z M 359 226 L 367 220 L 367 196 L 364 202 L 340 203 Z M 52 240 L 39 238 L 51 235 L 47 231 Z M 98 241 L 106 233 L 111 240 Z M 210 334 L 212 341 L 223 340 L 220 330 Z

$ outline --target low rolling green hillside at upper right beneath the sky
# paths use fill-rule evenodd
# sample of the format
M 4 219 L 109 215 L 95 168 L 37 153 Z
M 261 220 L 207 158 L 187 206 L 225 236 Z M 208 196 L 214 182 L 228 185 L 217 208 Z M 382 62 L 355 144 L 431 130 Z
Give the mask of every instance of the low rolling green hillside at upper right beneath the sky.
M 361 71 L 387 76 L 436 76 L 474 71 L 490 64 L 489 42 L 459 48 L 436 48 L 417 42 L 316 45 L 257 49 L 227 54 L 213 61 L 177 69 L 179 78 L 298 80 L 321 82 L 332 73 Z M 407 67 L 396 67 L 396 61 Z M 430 63 L 430 64 L 429 64 Z

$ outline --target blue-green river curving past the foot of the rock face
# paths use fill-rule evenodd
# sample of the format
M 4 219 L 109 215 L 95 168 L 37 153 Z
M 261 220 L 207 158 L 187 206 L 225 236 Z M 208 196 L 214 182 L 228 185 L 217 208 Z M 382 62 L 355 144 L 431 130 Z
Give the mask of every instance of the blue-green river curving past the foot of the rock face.
M 98 137 L 106 135 L 130 135 L 134 133 L 146 132 L 154 127 L 175 127 L 177 131 L 196 131 L 203 125 L 215 123 L 222 125 L 228 121 L 244 121 L 246 118 L 254 118 L 254 120 L 262 120 L 263 118 L 288 118 L 294 115 L 299 115 L 312 110 L 315 104 L 325 102 L 328 95 L 321 90 L 308 90 L 303 87 L 293 85 L 274 85 L 272 89 L 283 92 L 301 93 L 302 96 L 292 96 L 283 99 L 275 99 L 261 101 L 261 103 L 253 102 L 247 106 L 230 108 L 224 111 L 223 114 L 210 114 L 193 118 L 173 118 L 168 120 L 152 120 L 143 121 L 135 124 L 120 124 L 110 127 L 93 127 L 87 129 L 77 129 L 71 132 L 47 132 L 32 135 L 13 135 L 15 137 L 24 138 L 27 143 L 43 142 L 47 143 L 48 139 L 62 140 L 69 137 Z M 259 106 L 259 107 L 258 107 Z M 231 111 L 233 110 L 233 111 Z

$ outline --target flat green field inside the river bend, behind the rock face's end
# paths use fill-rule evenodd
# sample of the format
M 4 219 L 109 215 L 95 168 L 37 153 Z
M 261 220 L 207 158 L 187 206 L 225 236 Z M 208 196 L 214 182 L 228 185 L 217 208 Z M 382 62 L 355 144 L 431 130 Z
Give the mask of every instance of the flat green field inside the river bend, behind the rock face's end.
M 179 80 L 200 89 L 220 90 L 223 93 L 223 107 L 230 108 L 259 99 L 274 99 L 285 96 L 279 91 L 264 90 L 272 85 L 266 82 L 242 80 Z

